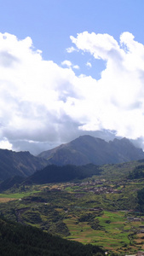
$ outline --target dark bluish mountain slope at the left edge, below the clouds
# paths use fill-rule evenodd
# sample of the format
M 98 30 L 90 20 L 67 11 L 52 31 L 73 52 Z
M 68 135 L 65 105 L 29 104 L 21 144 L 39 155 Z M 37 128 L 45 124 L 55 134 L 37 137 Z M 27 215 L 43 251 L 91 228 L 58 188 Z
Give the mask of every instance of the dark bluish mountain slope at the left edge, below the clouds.
M 29 152 L 14 152 L 0 149 L 0 180 L 9 177 L 32 175 L 36 170 L 47 166 L 47 160 L 37 158 Z

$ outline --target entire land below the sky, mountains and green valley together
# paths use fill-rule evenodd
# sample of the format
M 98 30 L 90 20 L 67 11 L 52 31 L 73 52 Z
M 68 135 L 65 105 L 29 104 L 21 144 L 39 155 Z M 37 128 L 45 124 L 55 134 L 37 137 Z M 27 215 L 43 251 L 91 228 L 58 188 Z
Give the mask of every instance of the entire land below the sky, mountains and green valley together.
M 3 256 L 11 256 L 8 244 L 14 255 L 24 253 L 25 244 L 31 255 L 144 250 L 144 153 L 128 139 L 83 136 L 38 156 L 1 149 L 0 163 Z M 55 237 L 61 246 L 48 247 Z

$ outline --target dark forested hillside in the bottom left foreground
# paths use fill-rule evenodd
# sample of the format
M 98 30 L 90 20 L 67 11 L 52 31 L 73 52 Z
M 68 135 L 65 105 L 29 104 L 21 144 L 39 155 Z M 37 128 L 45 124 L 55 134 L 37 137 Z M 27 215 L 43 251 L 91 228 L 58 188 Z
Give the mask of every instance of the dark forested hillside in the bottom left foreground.
M 0 218 L 1 256 L 92 256 L 96 253 L 105 254 L 100 247 L 66 241 L 37 228 Z

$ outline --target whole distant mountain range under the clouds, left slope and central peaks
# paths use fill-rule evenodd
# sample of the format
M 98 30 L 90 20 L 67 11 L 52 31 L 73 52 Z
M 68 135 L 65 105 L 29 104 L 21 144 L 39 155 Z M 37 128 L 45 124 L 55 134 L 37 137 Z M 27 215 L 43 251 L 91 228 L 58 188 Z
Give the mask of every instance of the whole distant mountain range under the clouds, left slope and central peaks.
M 114 139 L 107 143 L 101 138 L 81 136 L 70 143 L 44 151 L 37 156 L 29 152 L 0 149 L 0 181 L 14 176 L 29 177 L 49 165 L 97 166 L 144 159 L 141 148 L 135 148 L 130 140 Z

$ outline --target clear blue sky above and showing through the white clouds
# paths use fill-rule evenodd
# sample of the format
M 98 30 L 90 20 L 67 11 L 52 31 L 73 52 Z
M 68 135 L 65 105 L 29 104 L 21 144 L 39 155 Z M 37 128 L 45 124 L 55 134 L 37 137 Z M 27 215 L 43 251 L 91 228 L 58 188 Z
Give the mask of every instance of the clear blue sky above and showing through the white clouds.
M 31 37 L 34 47 L 43 51 L 43 59 L 57 64 L 68 59 L 81 67 L 78 74 L 99 78 L 104 62 L 90 55 L 67 54 L 71 35 L 76 37 L 84 31 L 108 33 L 119 40 L 122 32 L 131 32 L 144 43 L 142 0 L 5 0 L 0 7 L 0 32 L 19 39 Z M 87 61 L 94 62 L 94 69 L 85 67 Z

